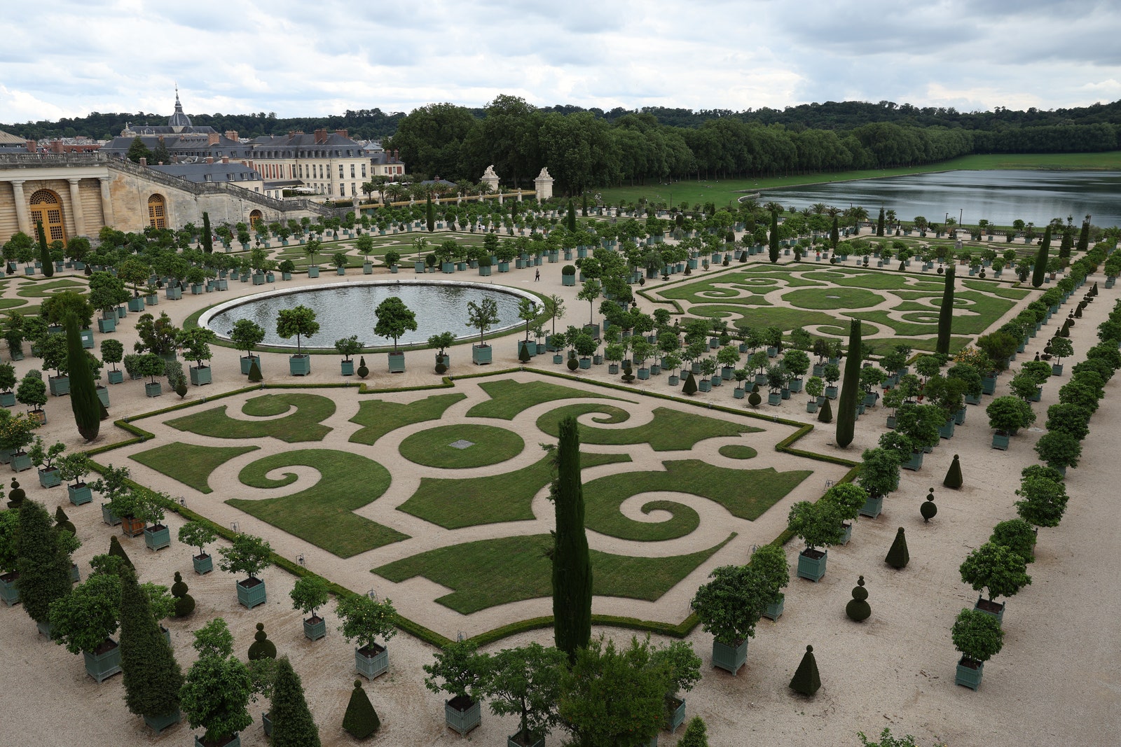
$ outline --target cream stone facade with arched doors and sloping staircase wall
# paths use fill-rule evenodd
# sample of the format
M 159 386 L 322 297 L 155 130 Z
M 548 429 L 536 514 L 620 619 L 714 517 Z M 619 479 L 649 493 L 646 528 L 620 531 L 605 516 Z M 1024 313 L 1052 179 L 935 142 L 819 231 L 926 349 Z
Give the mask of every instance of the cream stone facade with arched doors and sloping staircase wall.
M 195 184 L 100 153 L 0 155 L 0 243 L 43 221 L 48 241 L 96 236 L 102 226 L 142 231 L 186 223 L 287 221 L 328 215 L 309 200 L 279 200 L 228 183 Z

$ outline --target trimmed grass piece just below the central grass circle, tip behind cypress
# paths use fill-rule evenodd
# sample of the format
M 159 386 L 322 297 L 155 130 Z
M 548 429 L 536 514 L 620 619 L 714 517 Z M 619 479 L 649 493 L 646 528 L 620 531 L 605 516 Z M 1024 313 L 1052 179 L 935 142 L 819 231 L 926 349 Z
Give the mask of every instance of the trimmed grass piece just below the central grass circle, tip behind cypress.
M 581 454 L 583 467 L 630 461 L 626 454 Z M 501 475 L 465 478 L 421 477 L 398 511 L 444 529 L 529 521 L 534 496 L 553 479 L 553 458 Z

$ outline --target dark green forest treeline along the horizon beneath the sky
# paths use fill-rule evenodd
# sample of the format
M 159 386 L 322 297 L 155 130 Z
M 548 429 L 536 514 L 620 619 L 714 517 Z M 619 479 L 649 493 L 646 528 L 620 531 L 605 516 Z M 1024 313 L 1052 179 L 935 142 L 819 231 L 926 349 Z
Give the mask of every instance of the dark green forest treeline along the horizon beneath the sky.
M 382 138 L 411 174 L 476 180 L 489 165 L 506 184 L 531 186 L 548 166 L 554 189 L 580 194 L 623 184 L 698 177 L 751 177 L 919 166 L 970 153 L 1117 150 L 1121 101 L 1078 109 L 962 113 L 893 102 L 826 102 L 758 109 L 639 111 L 536 108 L 500 95 L 482 109 L 428 104 L 409 114 L 380 109 L 339 116 L 198 114 L 195 124 L 241 137 L 316 128 Z M 115 134 L 126 122 L 165 115 L 101 114 L 3 125 L 24 137 Z

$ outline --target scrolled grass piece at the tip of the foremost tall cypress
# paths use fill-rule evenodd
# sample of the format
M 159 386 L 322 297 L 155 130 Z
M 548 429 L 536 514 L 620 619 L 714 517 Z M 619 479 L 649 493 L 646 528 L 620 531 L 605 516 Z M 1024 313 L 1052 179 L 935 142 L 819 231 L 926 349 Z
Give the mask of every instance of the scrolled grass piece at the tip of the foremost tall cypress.
M 605 412 L 612 420 L 600 422 L 623 422 L 619 413 L 626 414 L 619 408 L 595 403 L 568 404 L 550 410 L 537 419 L 537 427 L 549 436 L 559 433 L 559 421 L 568 415 L 582 415 L 589 412 Z M 591 428 L 581 426 L 581 443 L 599 443 L 610 446 L 628 446 L 631 443 L 649 443 L 655 451 L 683 451 L 692 449 L 697 441 L 719 436 L 736 436 L 739 433 L 758 433 L 761 428 L 743 423 L 719 420 L 697 415 L 692 412 L 655 408 L 654 420 L 646 426 L 636 428 Z

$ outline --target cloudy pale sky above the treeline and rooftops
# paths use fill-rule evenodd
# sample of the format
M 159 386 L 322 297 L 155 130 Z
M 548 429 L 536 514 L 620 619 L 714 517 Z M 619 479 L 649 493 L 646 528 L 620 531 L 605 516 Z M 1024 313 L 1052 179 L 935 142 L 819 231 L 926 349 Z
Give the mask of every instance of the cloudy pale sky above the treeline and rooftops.
M 53 0 L 6 13 L 0 122 L 435 102 L 958 111 L 1121 99 L 1121 3 Z

